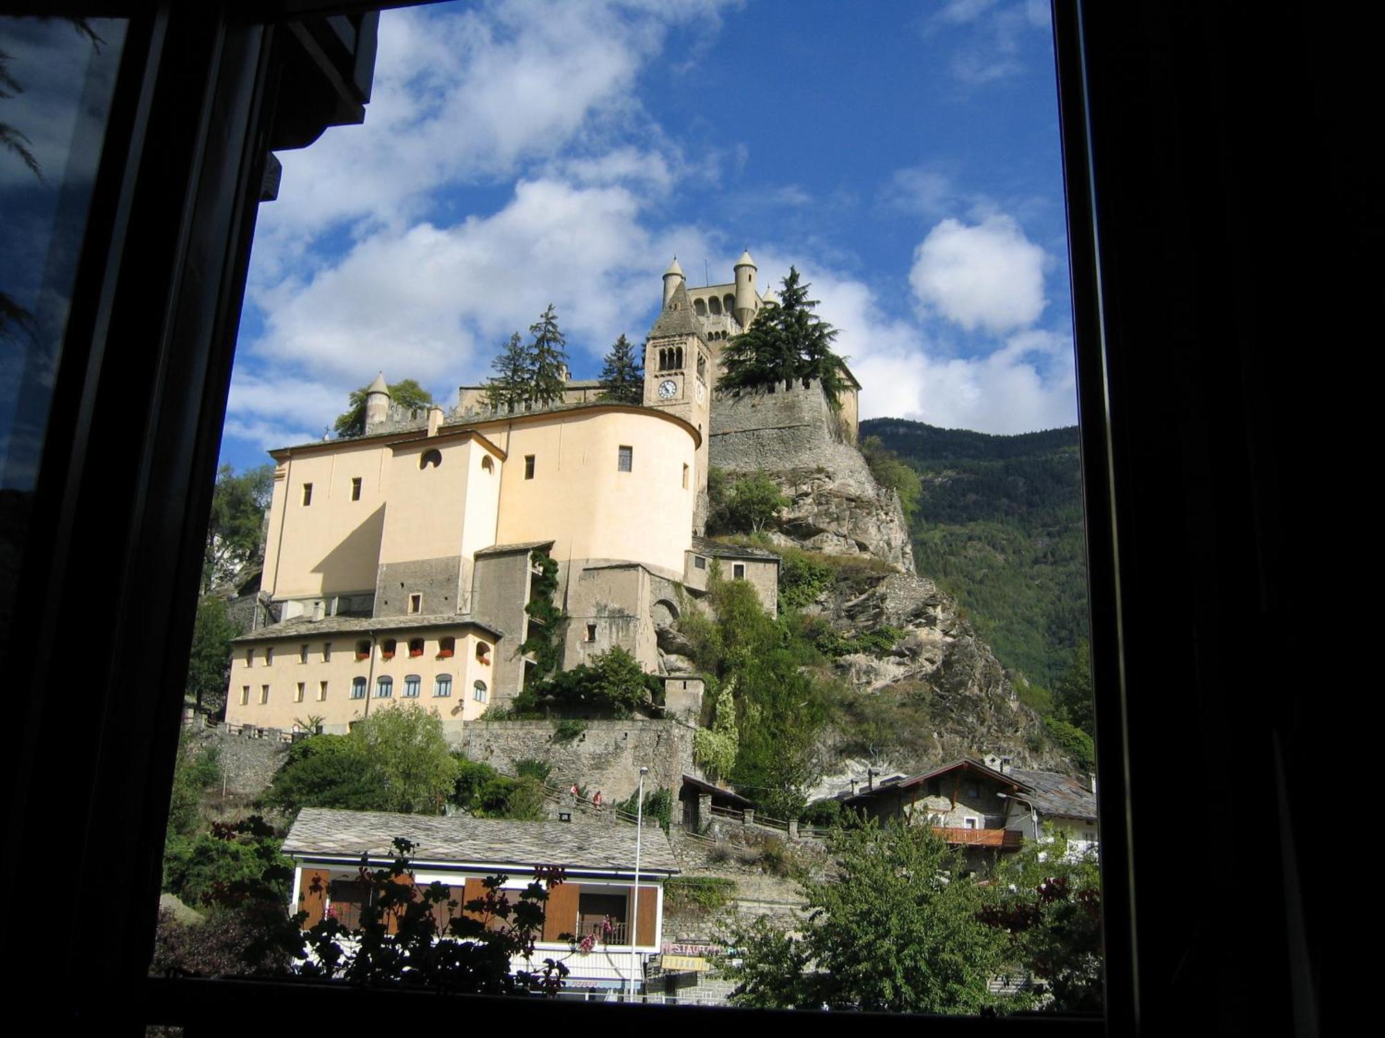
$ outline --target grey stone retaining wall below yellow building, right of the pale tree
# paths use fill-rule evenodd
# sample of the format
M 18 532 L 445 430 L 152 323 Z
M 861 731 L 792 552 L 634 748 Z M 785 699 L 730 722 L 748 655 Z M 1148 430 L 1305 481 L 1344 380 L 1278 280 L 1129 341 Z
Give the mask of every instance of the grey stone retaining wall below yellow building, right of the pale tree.
M 669 789 L 677 797 L 683 775 L 701 775 L 692 768 L 692 728 L 679 721 L 586 721 L 575 739 L 557 742 L 555 721 L 468 721 L 463 725 L 461 749 L 471 760 L 485 761 L 514 774 L 514 761 L 535 757 L 553 767 L 548 785 L 566 789 L 572 783 L 601 790 L 605 803 L 629 797 L 640 785 L 645 793 Z

